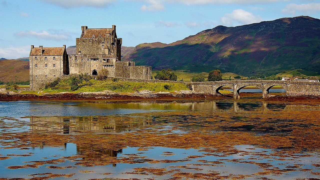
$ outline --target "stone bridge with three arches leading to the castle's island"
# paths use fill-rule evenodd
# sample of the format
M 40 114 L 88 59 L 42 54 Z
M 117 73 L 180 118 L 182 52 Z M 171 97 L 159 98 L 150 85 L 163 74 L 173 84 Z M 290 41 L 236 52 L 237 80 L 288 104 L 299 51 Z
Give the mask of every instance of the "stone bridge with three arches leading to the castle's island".
M 246 86 L 255 86 L 262 90 L 262 98 L 269 97 L 269 90 L 273 86 L 281 86 L 287 96 L 320 96 L 320 82 L 279 81 L 279 80 L 234 80 L 215 82 L 192 82 L 192 90 L 210 94 L 220 94 L 223 86 L 233 90 L 233 98 L 240 99 L 239 91 Z

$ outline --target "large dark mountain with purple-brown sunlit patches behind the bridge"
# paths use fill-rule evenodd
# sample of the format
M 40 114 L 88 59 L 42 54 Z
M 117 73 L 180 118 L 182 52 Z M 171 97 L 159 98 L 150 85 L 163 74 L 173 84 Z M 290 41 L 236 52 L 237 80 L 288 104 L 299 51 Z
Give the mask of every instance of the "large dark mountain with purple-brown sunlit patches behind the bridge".
M 244 76 L 286 70 L 320 71 L 320 20 L 282 18 L 237 27 L 217 26 L 171 43 L 144 43 L 123 58 L 153 70 L 220 69 Z

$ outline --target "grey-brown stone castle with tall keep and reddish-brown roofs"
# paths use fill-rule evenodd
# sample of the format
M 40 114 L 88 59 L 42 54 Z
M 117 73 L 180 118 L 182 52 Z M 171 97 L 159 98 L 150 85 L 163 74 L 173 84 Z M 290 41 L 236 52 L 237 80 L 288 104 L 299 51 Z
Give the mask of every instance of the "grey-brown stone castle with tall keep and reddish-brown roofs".
M 102 69 L 107 69 L 111 78 L 151 79 L 150 66 L 135 66 L 134 61 L 121 61 L 122 38 L 117 38 L 115 25 L 102 29 L 82 26 L 81 30 L 80 38 L 76 38 L 76 54 L 67 54 L 66 45 L 31 45 L 30 89 L 43 88 L 46 83 L 63 75 L 98 75 Z

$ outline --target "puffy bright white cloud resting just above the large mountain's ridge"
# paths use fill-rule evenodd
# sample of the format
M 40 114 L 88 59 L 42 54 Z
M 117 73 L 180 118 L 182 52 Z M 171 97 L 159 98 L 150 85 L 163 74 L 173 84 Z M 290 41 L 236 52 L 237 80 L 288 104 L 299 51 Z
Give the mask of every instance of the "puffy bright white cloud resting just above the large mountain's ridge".
M 261 21 L 262 18 L 259 15 L 255 16 L 251 12 L 242 9 L 233 10 L 231 13 L 227 13 L 221 18 L 221 22 L 226 26 L 252 24 Z

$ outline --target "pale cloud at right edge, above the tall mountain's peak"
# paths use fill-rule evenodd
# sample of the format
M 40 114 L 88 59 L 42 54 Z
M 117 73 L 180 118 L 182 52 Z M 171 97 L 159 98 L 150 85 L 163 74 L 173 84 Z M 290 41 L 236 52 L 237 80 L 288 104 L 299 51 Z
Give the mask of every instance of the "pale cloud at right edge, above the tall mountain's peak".
M 315 13 L 320 12 L 320 3 L 310 3 L 310 4 L 288 4 L 282 10 L 283 13 L 289 13 L 295 15 L 296 12 L 303 13 Z

